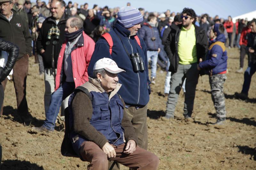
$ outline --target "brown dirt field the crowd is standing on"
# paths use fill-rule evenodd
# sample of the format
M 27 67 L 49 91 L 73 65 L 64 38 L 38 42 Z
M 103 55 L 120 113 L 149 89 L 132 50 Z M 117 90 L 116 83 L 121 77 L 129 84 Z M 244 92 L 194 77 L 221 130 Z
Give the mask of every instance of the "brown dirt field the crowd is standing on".
M 247 59 L 244 63 L 245 70 Z M 252 77 L 250 99 L 236 99 L 234 93 L 241 91 L 244 81 L 243 74 L 235 73 L 238 66 L 238 49 L 228 50 L 229 73 L 224 84 L 227 121 L 219 127 L 208 124 L 216 120 L 207 76 L 200 77 L 197 85 L 192 115 L 195 121 L 184 121 L 183 92 L 180 92 L 175 119 L 162 121 L 167 97 L 163 97 L 165 72 L 158 70 L 148 104 L 148 150 L 159 157 L 159 169 L 256 169 L 256 76 Z M 25 125 L 18 118 L 15 91 L 9 81 L 4 114 L 0 117 L 3 147 L 0 169 L 86 169 L 87 162 L 60 154 L 63 125 L 58 125 L 52 134 L 31 132 L 31 127 L 42 125 L 45 118 L 43 97 L 43 77 L 38 76 L 38 66 L 30 58 L 27 100 L 35 121 Z

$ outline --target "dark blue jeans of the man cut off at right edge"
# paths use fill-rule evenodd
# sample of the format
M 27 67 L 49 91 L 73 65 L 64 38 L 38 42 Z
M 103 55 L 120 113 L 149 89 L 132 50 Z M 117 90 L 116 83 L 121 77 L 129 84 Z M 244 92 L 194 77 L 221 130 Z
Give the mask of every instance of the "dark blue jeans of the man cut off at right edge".
M 242 93 L 248 95 L 249 89 L 250 89 L 250 84 L 252 80 L 252 75 L 256 71 L 256 63 L 250 62 L 248 65 L 248 68 L 244 72 L 244 84 L 243 84 L 243 89 Z

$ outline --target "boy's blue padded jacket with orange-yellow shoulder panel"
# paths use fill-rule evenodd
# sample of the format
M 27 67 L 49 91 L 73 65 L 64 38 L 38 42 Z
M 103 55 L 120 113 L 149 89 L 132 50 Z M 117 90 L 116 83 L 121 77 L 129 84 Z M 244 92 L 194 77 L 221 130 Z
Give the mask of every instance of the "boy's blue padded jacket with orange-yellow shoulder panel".
M 214 75 L 227 70 L 228 55 L 224 45 L 225 41 L 224 34 L 220 34 L 216 39 L 209 41 L 206 60 L 199 63 L 199 67 L 208 70 L 208 74 Z

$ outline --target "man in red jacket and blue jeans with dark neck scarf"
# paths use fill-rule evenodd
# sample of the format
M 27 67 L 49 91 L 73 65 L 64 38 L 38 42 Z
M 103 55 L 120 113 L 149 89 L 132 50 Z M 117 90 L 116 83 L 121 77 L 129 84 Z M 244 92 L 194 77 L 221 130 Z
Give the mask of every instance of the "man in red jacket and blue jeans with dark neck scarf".
M 80 18 L 69 18 L 66 22 L 66 41 L 62 44 L 58 57 L 55 92 L 52 93 L 50 107 L 41 127 L 33 127 L 38 132 L 52 132 L 60 110 L 61 101 L 73 90 L 88 81 L 87 68 L 94 51 L 94 41 L 84 33 Z

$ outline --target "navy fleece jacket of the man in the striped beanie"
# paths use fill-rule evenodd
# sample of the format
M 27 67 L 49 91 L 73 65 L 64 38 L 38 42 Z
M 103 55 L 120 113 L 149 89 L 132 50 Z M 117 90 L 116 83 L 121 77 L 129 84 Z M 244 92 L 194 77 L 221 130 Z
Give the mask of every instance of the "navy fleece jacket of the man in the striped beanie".
M 119 68 L 126 71 L 118 73 L 118 83 L 122 84 L 118 94 L 123 98 L 125 104 L 135 106 L 148 104 L 150 81 L 148 77 L 147 47 L 145 42 L 140 38 L 141 49 L 134 36 L 130 36 L 130 31 L 119 25 L 118 21 L 113 31 L 110 31 L 109 34 L 113 40 L 112 56 L 109 53 L 108 42 L 101 37 L 95 44 L 95 49 L 88 67 L 89 76 L 93 77 L 93 66 L 99 59 L 104 57 L 111 58 L 116 62 Z M 138 52 L 140 54 L 145 63 L 146 70 L 139 72 L 132 70 L 131 60 L 117 34 L 124 43 L 128 53 L 132 54 Z

